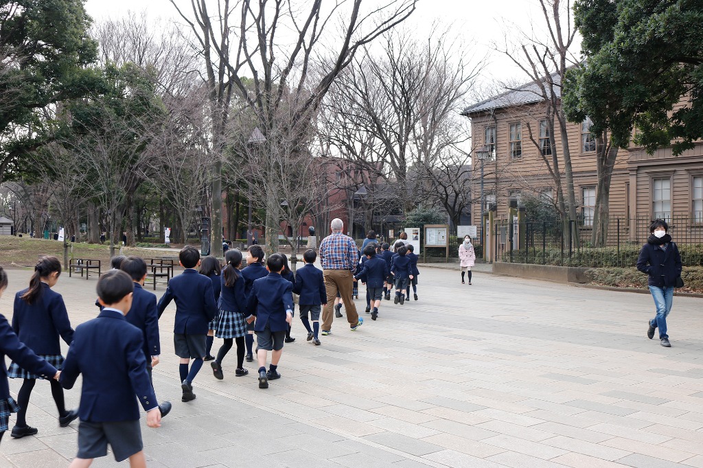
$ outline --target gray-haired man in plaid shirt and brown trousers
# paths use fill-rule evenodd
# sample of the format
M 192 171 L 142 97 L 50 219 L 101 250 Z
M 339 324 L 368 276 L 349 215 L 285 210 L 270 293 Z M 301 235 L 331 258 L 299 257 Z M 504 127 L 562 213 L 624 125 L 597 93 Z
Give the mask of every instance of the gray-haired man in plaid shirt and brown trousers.
M 356 313 L 356 305 L 352 299 L 354 289 L 354 270 L 359 256 L 356 253 L 356 242 L 347 235 L 342 234 L 344 223 L 335 218 L 330 223 L 332 234 L 320 243 L 320 262 L 325 275 L 325 289 L 327 290 L 327 304 L 322 311 L 322 334 L 332 333 L 333 307 L 337 292 L 344 301 L 349 327 L 353 331 L 363 324 L 363 318 Z

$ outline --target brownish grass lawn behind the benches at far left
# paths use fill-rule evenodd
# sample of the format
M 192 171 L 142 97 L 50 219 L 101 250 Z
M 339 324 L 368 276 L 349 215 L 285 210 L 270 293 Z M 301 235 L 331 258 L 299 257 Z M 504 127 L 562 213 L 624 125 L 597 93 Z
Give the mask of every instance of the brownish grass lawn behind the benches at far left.
M 120 252 L 117 246 L 115 252 Z M 72 252 L 72 253 L 71 253 Z M 179 249 L 172 248 L 172 252 L 124 247 L 123 255 L 136 255 L 143 258 L 159 258 L 161 256 L 178 256 Z M 7 267 L 33 267 L 39 256 L 53 255 L 63 263 L 63 242 L 58 240 L 34 239 L 30 237 L 18 238 L 13 235 L 0 236 L 0 266 Z M 69 244 L 68 257 L 81 259 L 96 259 L 103 262 L 103 271 L 110 269 L 110 245 L 86 244 L 74 242 Z M 176 262 L 177 263 L 177 262 Z

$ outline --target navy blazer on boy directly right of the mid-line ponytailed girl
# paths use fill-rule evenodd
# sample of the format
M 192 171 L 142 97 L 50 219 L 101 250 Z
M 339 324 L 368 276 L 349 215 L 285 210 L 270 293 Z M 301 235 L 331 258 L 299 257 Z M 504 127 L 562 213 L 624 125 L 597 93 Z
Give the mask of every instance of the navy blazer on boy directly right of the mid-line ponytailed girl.
M 293 310 L 292 290 L 292 283 L 278 273 L 254 281 L 247 299 L 247 311 L 257 318 L 254 332 L 263 332 L 267 323 L 271 332 L 288 331 L 285 311 Z

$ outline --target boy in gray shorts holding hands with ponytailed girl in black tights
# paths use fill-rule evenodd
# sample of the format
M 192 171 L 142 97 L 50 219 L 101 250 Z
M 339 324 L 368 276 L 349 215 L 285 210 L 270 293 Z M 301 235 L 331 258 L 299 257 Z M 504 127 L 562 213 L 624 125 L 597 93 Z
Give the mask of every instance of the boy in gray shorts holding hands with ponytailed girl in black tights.
M 247 299 L 247 323 L 256 323 L 257 360 L 259 360 L 259 389 L 268 389 L 269 380 L 280 379 L 278 362 L 283 354 L 283 340 L 293 318 L 293 285 L 280 273 L 285 268 L 281 254 L 273 254 L 266 261 L 269 275 L 254 281 Z M 271 366 L 266 372 L 266 357 L 271 352 Z

